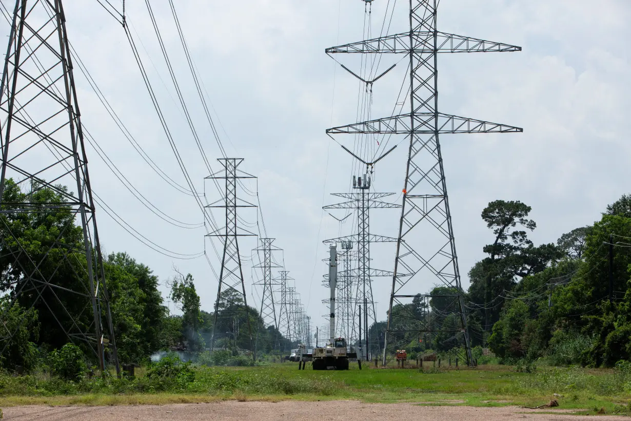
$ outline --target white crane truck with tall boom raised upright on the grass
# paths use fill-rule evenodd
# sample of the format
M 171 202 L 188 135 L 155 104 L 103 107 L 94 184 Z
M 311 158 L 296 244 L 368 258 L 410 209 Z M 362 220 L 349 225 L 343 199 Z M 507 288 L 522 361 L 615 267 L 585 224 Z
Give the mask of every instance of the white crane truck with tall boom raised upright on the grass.
M 314 370 L 348 370 L 348 360 L 357 358 L 357 352 L 348 352 L 345 338 L 335 337 L 335 292 L 338 281 L 337 257 L 337 246 L 332 244 L 329 247 L 329 290 L 331 291 L 331 300 L 329 302 L 331 316 L 329 319 L 329 341 L 324 348 L 314 348 L 311 354 L 311 366 Z M 308 354 L 303 356 L 307 357 Z M 361 370 L 362 361 L 358 359 L 357 362 Z

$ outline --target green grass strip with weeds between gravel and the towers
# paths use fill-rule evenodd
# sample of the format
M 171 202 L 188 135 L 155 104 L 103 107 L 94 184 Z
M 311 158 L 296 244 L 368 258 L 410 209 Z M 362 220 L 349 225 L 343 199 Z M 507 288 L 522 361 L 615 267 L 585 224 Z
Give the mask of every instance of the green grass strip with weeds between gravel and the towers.
M 61 382 L 25 376 L 0 378 L 0 406 L 130 405 L 212 400 L 409 401 L 423 405 L 539 406 L 557 399 L 562 409 L 631 415 L 631 376 L 616 370 L 512 367 L 477 369 L 375 369 L 351 365 L 349 371 L 298 371 L 297 364 L 268 367 L 199 367 L 183 383 L 136 379 Z M 161 386 L 162 385 L 162 386 Z

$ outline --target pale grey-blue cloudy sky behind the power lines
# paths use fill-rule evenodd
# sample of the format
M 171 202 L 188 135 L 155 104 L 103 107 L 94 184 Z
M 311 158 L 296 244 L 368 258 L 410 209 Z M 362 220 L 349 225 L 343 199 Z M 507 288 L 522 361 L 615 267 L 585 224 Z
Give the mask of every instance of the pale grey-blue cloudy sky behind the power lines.
M 7 6 L 11 3 L 3 1 Z M 204 186 L 208 170 L 186 124 L 146 6 L 143 1 L 126 3 L 130 32 L 196 189 L 205 191 L 210 202 L 220 199 L 213 184 Z M 122 10 L 119 1 L 112 4 Z M 148 156 L 184 185 L 121 25 L 96 0 L 67 1 L 64 6 L 71 43 L 103 95 Z M 168 1 L 151 0 L 151 6 L 192 121 L 213 170 L 218 170 L 215 159 L 220 153 L 188 71 Z M 395 13 L 389 32 L 408 30 L 408 2 L 374 0 L 373 36 L 379 35 L 386 7 L 391 11 L 392 6 Z M 244 158 L 241 168 L 257 175 L 257 182 L 246 181 L 246 187 L 251 192 L 258 188 L 267 235 L 285 250 L 276 259 L 284 261 L 295 278 L 314 326 L 322 324 L 326 309 L 321 300 L 327 296 L 321 286 L 326 270 L 321 259 L 327 248 L 322 240 L 350 233 L 353 221 L 348 218 L 340 225 L 321 208 L 336 203 L 339 198 L 329 193 L 348 191 L 351 176 L 359 172 L 350 155 L 324 131 L 357 121 L 358 97 L 363 95 L 362 84 L 327 57 L 324 49 L 363 39 L 368 17 L 365 3 L 179 0 L 176 7 L 227 154 Z M 602 0 L 598 7 L 588 0 L 441 2 L 440 31 L 523 47 L 519 53 L 439 57 L 441 112 L 524 128 L 522 134 L 441 138 L 465 288 L 469 268 L 483 257 L 481 249 L 492 238 L 480 218 L 489 201 L 521 200 L 532 206 L 531 216 L 538 227 L 531 238 L 540 244 L 592 223 L 608 203 L 631 190 L 625 131 L 631 109 L 630 20 L 627 0 Z M 8 34 L 6 23 L 2 32 Z M 400 59 L 384 57 L 380 71 Z M 357 57 L 339 60 L 354 69 L 361 64 Z M 405 72 L 405 64 L 398 65 L 375 83 L 372 117 L 391 114 Z M 191 196 L 179 193 L 151 170 L 83 75 L 77 71 L 75 78 L 83 123 L 124 177 L 166 215 L 192 225 L 203 222 Z M 348 141 L 352 145 L 352 139 Z M 393 200 L 400 201 L 405 153 L 405 147 L 398 148 L 375 167 L 374 190 L 396 193 Z M 139 233 L 180 254 L 204 251 L 204 228 L 184 229 L 164 222 L 122 186 L 93 148 L 88 157 L 94 191 Z M 242 197 L 256 201 L 248 190 L 240 192 Z M 211 311 L 217 280 L 203 257 L 168 258 L 131 237 L 102 211 L 97 215 L 102 245 L 108 252 L 128 252 L 162 281 L 174 275 L 174 267 L 192 273 L 202 307 Z M 245 209 L 240 216 L 249 229 L 257 232 L 257 221 L 262 229 L 256 211 Z M 398 221 L 397 210 L 376 210 L 372 232 L 396 236 Z M 255 247 L 254 237 L 240 242 L 251 304 L 256 304 L 259 295 L 251 286 L 259 276 L 251 270 L 252 261 L 257 263 L 256 256 L 251 258 Z M 206 240 L 205 248 L 218 271 L 211 240 Z M 392 270 L 394 247 L 375 245 L 372 257 L 379 269 Z M 374 284 L 380 318 L 385 317 L 388 283 L 376 280 Z

